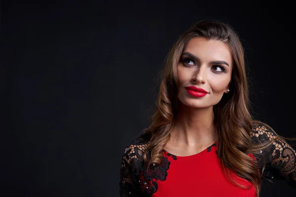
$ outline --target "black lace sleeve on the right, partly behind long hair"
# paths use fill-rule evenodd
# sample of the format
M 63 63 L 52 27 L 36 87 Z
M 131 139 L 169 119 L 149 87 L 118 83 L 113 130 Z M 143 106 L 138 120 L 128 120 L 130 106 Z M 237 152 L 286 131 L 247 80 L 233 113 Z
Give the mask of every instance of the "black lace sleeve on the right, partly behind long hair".
M 275 140 L 270 147 L 261 150 L 261 154 L 254 154 L 258 161 L 260 172 L 262 171 L 263 164 L 266 164 L 262 174 L 263 177 L 285 179 L 291 187 L 296 188 L 295 149 L 278 138 L 267 125 L 254 123 L 251 133 L 253 143 L 260 144 L 273 139 Z

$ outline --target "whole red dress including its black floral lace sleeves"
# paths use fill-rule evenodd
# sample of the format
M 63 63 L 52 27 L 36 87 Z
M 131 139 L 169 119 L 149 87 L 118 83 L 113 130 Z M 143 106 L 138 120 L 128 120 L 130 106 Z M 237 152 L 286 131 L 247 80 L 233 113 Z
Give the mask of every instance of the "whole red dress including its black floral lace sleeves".
M 217 143 L 187 157 L 175 156 L 163 150 L 161 164 L 148 167 L 144 150 L 150 137 L 148 133 L 142 134 L 125 148 L 120 168 L 120 197 L 256 197 L 255 187 L 246 179 L 234 172 L 231 174 L 235 182 L 251 186 L 242 189 L 224 175 Z M 252 143 L 259 144 L 275 139 L 276 135 L 264 125 L 256 123 L 250 137 Z M 146 156 L 149 161 L 149 151 Z M 291 145 L 275 139 L 260 154 L 250 153 L 249 157 L 256 160 L 261 177 L 285 178 L 296 188 L 296 151 Z

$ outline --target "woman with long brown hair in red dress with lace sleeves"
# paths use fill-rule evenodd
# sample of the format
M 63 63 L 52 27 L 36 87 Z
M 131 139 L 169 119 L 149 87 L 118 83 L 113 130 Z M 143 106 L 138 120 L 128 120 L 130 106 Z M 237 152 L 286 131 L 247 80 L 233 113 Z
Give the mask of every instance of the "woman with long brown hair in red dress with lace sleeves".
M 295 150 L 248 109 L 237 34 L 196 23 L 167 57 L 150 127 L 124 151 L 121 197 L 257 197 L 261 177 L 295 186 Z

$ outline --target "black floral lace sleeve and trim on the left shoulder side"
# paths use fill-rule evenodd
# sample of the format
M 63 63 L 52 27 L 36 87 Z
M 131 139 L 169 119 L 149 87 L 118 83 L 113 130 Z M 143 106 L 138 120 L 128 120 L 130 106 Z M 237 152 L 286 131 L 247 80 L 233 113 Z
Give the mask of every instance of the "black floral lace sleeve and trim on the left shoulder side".
M 152 196 L 157 191 L 157 180 L 164 181 L 167 177 L 170 165 L 168 157 L 177 160 L 175 155 L 163 151 L 161 164 L 148 166 L 143 156 L 147 146 L 148 135 L 143 134 L 125 149 L 120 170 L 121 197 Z M 150 159 L 150 152 L 147 153 L 147 159 Z

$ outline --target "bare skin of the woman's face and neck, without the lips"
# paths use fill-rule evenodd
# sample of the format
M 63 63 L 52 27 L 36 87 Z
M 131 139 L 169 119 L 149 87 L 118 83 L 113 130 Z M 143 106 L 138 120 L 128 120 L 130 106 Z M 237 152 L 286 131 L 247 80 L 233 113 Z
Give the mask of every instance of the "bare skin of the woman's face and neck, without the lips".
M 213 106 L 228 93 L 232 64 L 230 49 L 222 41 L 203 37 L 189 40 L 177 66 L 180 105 L 171 138 L 164 147 L 169 153 L 195 155 L 217 141 Z M 185 90 L 187 86 L 202 88 L 208 94 L 193 97 Z

